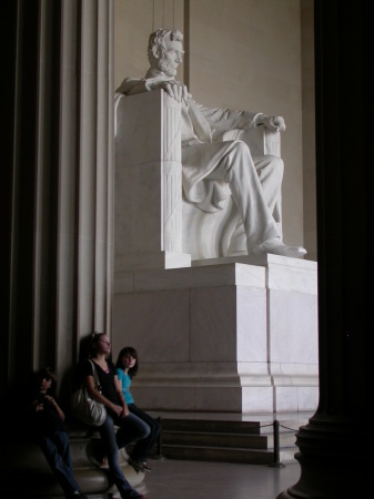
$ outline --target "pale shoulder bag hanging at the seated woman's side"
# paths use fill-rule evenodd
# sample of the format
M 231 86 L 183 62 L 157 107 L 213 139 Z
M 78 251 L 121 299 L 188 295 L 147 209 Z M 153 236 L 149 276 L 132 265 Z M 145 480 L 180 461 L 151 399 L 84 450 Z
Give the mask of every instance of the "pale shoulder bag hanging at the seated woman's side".
M 93 370 L 94 387 L 100 391 L 100 384 L 94 363 L 90 360 Z M 71 414 L 74 418 L 90 426 L 101 426 L 107 417 L 103 404 L 90 397 L 84 385 L 82 385 L 71 397 Z

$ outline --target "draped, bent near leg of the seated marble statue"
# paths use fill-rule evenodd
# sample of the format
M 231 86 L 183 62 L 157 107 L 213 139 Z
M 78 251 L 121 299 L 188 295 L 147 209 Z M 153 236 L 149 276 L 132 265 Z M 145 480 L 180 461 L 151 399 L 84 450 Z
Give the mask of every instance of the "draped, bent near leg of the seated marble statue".
M 183 189 L 189 201 L 200 203 L 199 206 L 202 202 L 206 204 L 204 195 L 206 197 L 208 191 L 201 182 L 204 179 L 229 184 L 243 222 L 249 254 L 273 253 L 299 258 L 306 253 L 302 247 L 282 243 L 280 224 L 274 220 L 266 203 L 273 203 L 273 211 L 275 210 L 280 200 L 276 198 L 275 193 L 282 177 L 277 175 L 277 181 L 273 182 L 275 189 L 266 190 L 266 200 L 250 149 L 244 142 L 196 144 L 185 147 L 182 152 Z M 277 164 L 283 166 L 283 163 Z M 271 169 L 266 170 L 265 165 L 262 169 L 262 180 L 265 182 Z M 271 194 L 267 195 L 267 191 Z

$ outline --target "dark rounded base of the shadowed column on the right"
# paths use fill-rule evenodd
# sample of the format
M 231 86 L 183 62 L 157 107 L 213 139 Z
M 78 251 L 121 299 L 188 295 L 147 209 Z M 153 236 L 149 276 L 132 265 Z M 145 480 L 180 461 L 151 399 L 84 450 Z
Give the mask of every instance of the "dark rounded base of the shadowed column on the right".
M 297 483 L 276 499 L 342 499 L 364 498 L 372 492 L 373 458 L 370 421 L 315 421 L 301 427 L 296 434 L 301 466 Z

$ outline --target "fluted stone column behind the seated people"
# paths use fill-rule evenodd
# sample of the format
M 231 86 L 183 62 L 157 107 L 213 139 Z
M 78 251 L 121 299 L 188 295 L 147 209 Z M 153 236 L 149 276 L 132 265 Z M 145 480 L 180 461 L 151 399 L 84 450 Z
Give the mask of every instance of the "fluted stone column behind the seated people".
M 28 376 L 44 366 L 57 371 L 69 408 L 81 339 L 110 334 L 113 1 L 11 3 L 2 213 L 9 302 L 0 364 L 3 414 L 14 419 Z M 11 422 L 1 451 L 2 492 L 39 496 L 41 487 L 43 496 L 62 496 L 30 432 Z M 87 430 L 77 428 L 70 439 L 82 490 L 103 493 L 108 477 L 89 459 Z

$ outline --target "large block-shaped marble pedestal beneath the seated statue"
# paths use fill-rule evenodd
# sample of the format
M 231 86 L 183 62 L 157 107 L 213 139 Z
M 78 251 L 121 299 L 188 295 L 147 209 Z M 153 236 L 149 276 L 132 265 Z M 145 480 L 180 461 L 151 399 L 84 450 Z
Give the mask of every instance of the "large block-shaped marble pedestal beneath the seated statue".
M 139 352 L 137 404 L 151 410 L 314 410 L 316 263 L 276 255 L 201 263 L 115 273 L 113 356 L 127 345 Z

